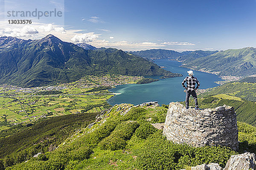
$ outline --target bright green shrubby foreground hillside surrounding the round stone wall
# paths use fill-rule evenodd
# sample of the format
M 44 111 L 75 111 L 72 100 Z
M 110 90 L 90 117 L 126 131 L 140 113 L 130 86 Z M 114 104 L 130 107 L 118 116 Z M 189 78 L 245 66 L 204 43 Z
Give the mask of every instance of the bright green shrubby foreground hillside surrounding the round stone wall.
M 105 113 L 104 119 L 91 128 L 81 129 L 56 150 L 8 167 L 7 170 L 179 170 L 210 162 L 224 167 L 229 157 L 237 154 L 226 147 L 174 144 L 163 137 L 162 130 L 151 125 L 165 121 L 166 106 L 131 108 L 127 112 L 131 106 L 114 106 Z M 253 152 L 255 142 L 249 141 L 248 137 L 253 136 L 254 127 L 241 123 L 239 131 L 242 148 Z

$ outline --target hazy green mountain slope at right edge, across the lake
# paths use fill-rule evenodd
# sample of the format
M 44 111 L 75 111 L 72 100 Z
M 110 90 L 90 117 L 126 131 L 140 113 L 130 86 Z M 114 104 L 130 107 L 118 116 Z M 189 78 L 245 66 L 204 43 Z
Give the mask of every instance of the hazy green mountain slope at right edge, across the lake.
M 184 61 L 183 67 L 196 70 L 204 69 L 219 75 L 247 76 L 256 72 L 256 48 L 229 49 Z

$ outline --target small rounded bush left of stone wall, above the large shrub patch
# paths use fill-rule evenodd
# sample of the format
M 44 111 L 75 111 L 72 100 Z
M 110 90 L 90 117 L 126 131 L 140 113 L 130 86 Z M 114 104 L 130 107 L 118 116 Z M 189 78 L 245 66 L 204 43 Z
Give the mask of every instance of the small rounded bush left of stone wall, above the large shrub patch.
M 146 139 L 149 135 L 155 133 L 156 131 L 157 129 L 154 126 L 148 122 L 143 121 L 140 123 L 140 127 L 135 130 L 134 135 L 141 139 Z

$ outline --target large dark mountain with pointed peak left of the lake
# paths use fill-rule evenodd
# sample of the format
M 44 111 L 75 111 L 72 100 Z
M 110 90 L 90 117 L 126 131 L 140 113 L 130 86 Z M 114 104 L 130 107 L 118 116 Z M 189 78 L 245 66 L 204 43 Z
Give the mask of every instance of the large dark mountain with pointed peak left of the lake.
M 73 43 L 63 42 L 51 34 L 41 40 L 0 37 L 0 83 L 35 87 L 56 82 L 72 82 L 84 75 L 107 73 L 182 76 L 122 50 L 85 50 Z

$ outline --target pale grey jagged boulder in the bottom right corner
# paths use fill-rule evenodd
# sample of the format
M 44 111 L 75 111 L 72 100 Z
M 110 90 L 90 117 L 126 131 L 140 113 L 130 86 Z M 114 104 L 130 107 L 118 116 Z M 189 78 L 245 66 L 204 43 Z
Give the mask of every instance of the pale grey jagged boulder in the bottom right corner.
M 224 170 L 256 170 L 256 157 L 254 153 L 232 155 L 227 161 Z

